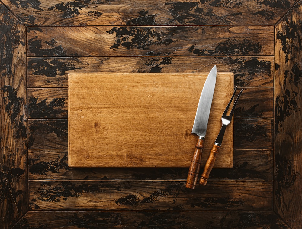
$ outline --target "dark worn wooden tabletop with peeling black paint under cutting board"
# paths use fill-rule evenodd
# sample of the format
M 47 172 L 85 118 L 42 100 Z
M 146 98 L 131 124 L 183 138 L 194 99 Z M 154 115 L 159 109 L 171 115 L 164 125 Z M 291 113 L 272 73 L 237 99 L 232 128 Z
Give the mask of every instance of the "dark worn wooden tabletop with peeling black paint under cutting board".
M 301 228 L 302 1 L 1 0 L 3 228 Z M 68 167 L 69 72 L 234 73 L 234 165 Z

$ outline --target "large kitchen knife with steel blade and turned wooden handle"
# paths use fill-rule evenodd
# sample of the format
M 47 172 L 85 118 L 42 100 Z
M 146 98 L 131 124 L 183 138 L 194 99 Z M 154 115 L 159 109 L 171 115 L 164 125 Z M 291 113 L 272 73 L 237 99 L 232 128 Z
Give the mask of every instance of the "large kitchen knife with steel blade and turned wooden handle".
M 209 120 L 210 110 L 212 106 L 213 94 L 216 84 L 217 67 L 212 68 L 199 98 L 192 133 L 199 136 L 195 145 L 194 155 L 188 172 L 186 187 L 194 189 L 197 183 L 198 173 L 200 169 L 201 153 L 204 149 L 204 137 L 207 131 L 207 123 Z

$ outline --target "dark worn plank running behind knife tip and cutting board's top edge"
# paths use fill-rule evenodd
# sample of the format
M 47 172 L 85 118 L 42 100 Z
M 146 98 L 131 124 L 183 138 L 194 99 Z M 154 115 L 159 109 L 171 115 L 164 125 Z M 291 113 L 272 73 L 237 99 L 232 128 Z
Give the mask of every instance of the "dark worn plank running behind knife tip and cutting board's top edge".
M 273 87 L 273 57 L 29 57 L 28 87 L 67 87 L 69 72 L 233 72 L 239 87 Z

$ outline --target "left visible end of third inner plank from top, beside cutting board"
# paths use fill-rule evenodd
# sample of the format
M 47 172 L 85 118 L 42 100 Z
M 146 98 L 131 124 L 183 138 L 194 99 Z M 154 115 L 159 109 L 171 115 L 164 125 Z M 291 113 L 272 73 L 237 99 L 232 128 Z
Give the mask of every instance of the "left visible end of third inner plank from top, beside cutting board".
M 29 118 L 67 118 L 67 88 L 27 89 Z

